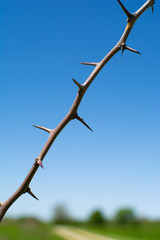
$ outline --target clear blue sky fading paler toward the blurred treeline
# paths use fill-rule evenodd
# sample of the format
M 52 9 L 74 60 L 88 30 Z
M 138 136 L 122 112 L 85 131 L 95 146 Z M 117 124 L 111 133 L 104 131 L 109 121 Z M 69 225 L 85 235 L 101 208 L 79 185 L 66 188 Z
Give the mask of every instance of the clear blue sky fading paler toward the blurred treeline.
M 136 11 L 145 1 L 123 3 Z M 55 128 L 93 67 L 117 43 L 126 16 L 117 1 L 0 0 L 0 201 L 20 185 L 47 140 L 33 124 Z M 131 206 L 160 218 L 160 6 L 148 9 L 127 44 L 141 56 L 116 54 L 94 80 L 31 183 L 39 202 L 22 196 L 9 215 L 48 219 L 56 204 L 85 218 Z

